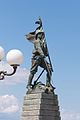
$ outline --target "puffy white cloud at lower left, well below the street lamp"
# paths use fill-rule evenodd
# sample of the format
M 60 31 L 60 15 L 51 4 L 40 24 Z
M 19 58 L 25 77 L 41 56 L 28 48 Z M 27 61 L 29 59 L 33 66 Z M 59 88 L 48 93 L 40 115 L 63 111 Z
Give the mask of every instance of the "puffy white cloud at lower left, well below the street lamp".
M 18 101 L 14 95 L 0 96 L 0 113 L 14 113 L 18 110 Z

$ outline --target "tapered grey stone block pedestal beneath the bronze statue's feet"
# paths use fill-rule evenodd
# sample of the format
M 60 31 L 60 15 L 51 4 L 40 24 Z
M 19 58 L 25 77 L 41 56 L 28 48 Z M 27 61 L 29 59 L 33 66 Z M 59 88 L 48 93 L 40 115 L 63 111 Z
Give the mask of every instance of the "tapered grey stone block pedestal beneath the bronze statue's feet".
M 57 95 L 40 89 L 26 94 L 21 120 L 61 120 Z

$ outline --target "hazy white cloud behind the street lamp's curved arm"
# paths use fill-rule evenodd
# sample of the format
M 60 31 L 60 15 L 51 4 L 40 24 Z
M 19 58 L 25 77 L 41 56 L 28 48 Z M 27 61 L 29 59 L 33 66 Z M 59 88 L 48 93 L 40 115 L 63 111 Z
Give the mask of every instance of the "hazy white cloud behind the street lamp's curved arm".
M 0 63 L 0 71 L 2 70 L 7 71 L 7 73 L 12 73 L 13 71 L 12 67 L 5 62 Z M 29 70 L 27 70 L 26 68 L 18 67 L 14 75 L 8 77 L 5 76 L 5 79 L 0 81 L 0 83 L 5 83 L 5 84 L 16 84 L 19 82 L 22 83 L 28 79 L 28 75 L 29 75 Z

